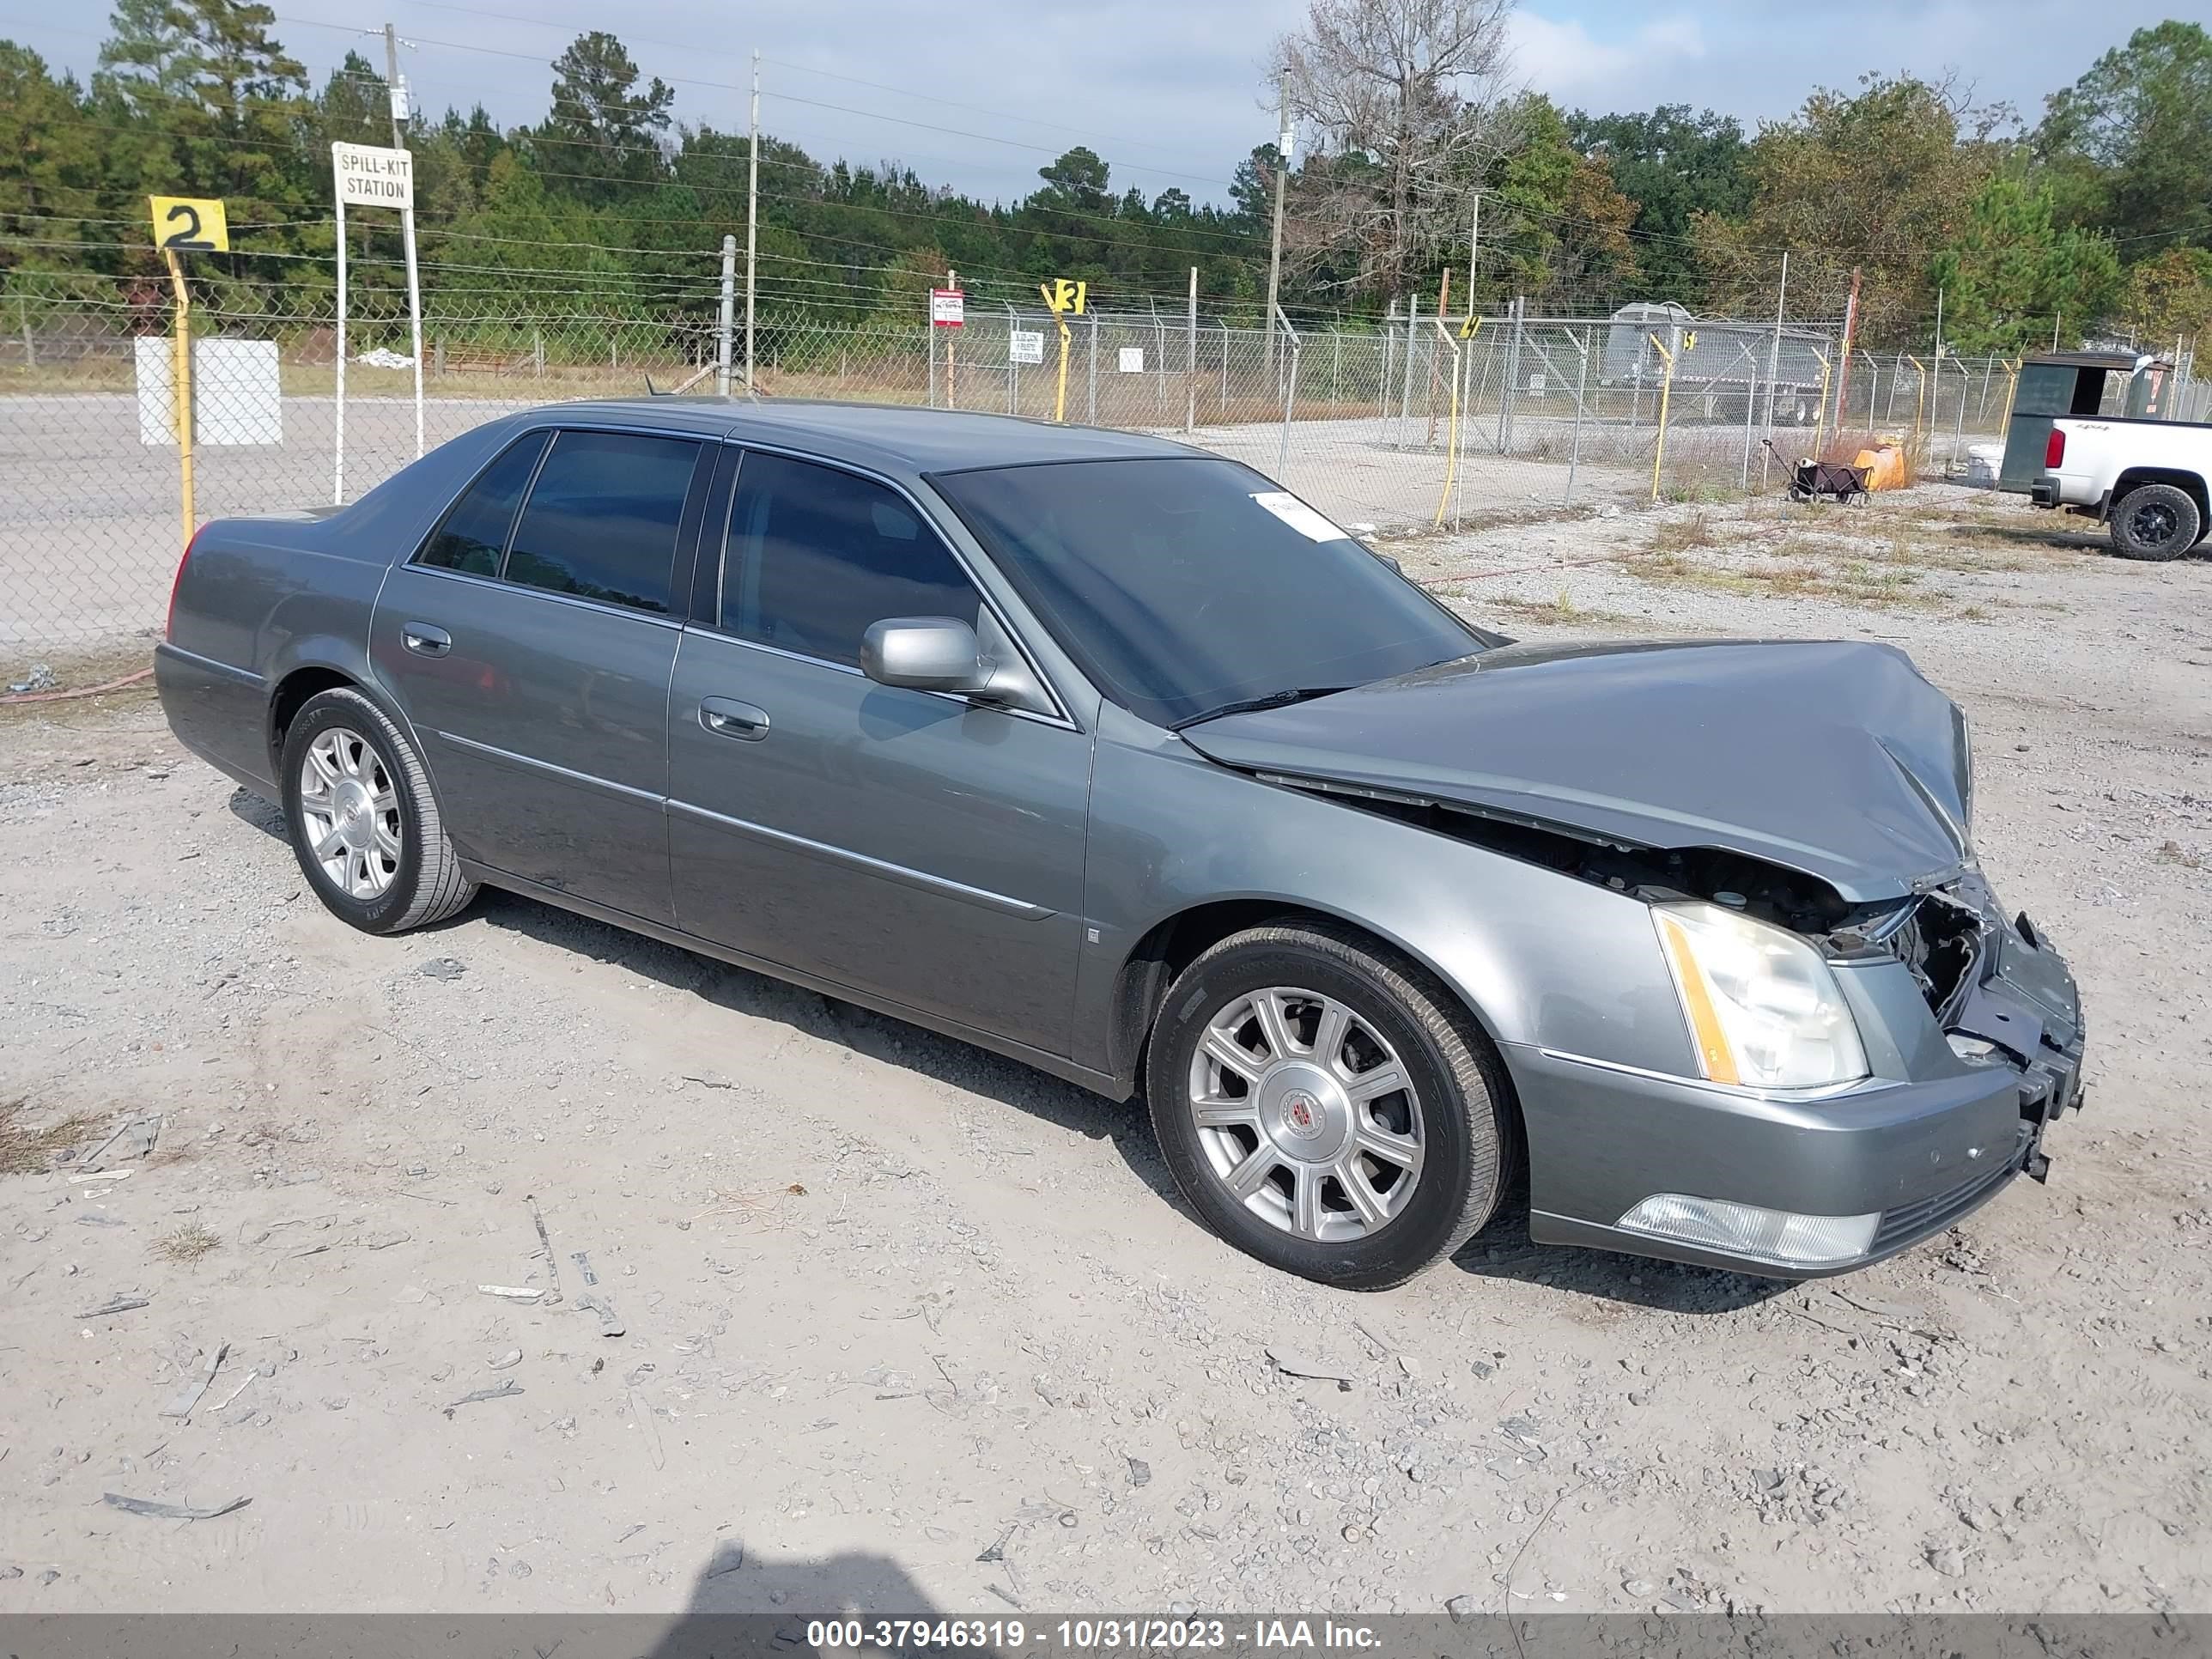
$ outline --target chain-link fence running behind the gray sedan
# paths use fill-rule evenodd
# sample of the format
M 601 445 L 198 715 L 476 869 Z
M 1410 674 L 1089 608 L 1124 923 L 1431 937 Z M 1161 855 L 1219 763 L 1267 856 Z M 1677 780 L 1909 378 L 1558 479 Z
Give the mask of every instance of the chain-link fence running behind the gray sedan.
M 420 440 L 562 398 L 712 392 L 712 299 L 619 285 L 422 299 Z M 1854 354 L 1832 323 L 1717 323 L 1674 307 L 1542 319 L 1394 316 L 1274 330 L 1168 307 L 1068 316 L 971 299 L 958 330 L 878 319 L 761 321 L 768 398 L 998 411 L 1186 436 L 1279 478 L 1356 533 L 1577 504 L 1761 489 L 1787 460 L 1902 438 L 1964 467 L 2002 438 L 2015 365 Z M 0 294 L 0 655 L 157 630 L 184 535 L 170 294 L 108 276 L 27 276 Z M 345 327 L 330 290 L 195 290 L 192 515 L 354 500 L 416 456 L 403 307 Z M 743 330 L 728 338 L 745 387 Z M 343 394 L 341 394 L 343 387 Z M 2194 407 L 2201 387 L 2183 383 Z

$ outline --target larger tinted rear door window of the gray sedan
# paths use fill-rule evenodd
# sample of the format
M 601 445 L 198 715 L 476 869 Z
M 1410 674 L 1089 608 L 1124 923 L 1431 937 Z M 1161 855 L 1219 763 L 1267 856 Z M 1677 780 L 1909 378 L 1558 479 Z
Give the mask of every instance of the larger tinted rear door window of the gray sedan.
M 580 599 L 668 611 L 677 522 L 699 445 L 564 431 L 515 524 L 507 580 Z

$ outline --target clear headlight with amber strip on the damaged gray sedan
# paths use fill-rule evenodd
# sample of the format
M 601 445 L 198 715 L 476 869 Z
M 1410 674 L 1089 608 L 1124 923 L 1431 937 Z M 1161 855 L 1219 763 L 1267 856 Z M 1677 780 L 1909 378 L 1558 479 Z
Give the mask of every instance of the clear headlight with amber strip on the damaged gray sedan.
M 1705 1077 L 1814 1088 L 1867 1075 L 1836 975 L 1796 933 L 1719 905 L 1652 905 L 1652 922 Z

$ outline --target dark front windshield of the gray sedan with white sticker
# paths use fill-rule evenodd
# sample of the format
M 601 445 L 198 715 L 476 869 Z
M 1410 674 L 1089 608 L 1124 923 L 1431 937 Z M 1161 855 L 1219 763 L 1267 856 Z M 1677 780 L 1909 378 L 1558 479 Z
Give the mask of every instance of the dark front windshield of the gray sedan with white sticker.
M 1484 644 L 1232 460 L 1079 460 L 931 482 L 1099 690 L 1159 726 L 1391 679 Z

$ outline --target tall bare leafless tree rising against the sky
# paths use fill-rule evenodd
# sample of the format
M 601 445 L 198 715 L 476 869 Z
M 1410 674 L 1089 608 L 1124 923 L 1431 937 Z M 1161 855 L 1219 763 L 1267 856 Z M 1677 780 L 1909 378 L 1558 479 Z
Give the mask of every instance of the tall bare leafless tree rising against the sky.
M 1467 234 L 1484 157 L 1511 135 L 1513 0 L 1310 0 L 1274 60 L 1318 133 L 1287 252 L 1398 299 Z

